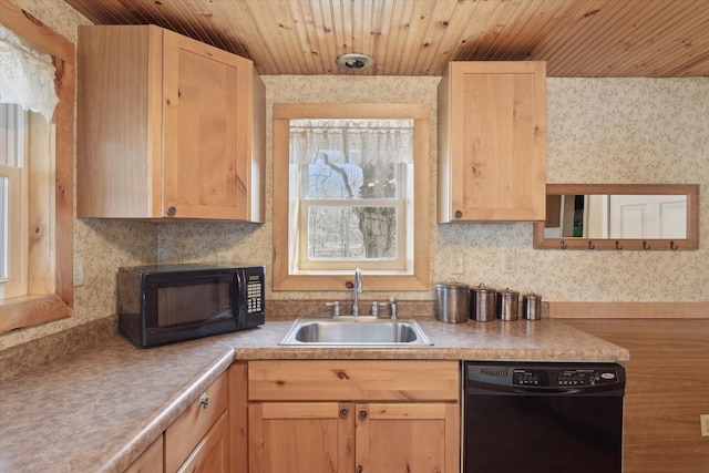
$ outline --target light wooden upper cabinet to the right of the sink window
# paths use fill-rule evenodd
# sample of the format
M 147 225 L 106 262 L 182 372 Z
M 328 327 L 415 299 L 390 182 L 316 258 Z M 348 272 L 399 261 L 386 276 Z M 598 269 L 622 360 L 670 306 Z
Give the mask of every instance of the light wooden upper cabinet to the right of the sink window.
M 544 220 L 546 63 L 451 62 L 438 106 L 439 223 Z

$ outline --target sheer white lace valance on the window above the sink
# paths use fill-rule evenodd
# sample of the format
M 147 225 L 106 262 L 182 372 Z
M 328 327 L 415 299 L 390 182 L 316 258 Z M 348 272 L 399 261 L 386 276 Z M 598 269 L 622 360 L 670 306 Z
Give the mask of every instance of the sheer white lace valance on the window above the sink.
M 412 120 L 291 120 L 290 163 L 413 163 Z

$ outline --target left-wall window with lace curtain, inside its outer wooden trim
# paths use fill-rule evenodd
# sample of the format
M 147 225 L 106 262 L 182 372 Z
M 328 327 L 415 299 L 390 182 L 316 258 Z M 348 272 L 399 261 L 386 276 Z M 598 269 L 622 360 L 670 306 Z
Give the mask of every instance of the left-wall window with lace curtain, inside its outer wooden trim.
M 29 240 L 51 204 L 54 80 L 52 58 L 0 24 L 0 299 L 42 292 L 32 261 L 53 257 Z

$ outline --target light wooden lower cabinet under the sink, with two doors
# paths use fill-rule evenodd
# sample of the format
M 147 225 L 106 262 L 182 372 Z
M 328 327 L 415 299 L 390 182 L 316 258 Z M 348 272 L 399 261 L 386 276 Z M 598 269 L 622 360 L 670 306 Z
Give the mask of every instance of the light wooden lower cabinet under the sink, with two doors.
M 248 471 L 458 472 L 459 376 L 455 361 L 249 362 Z

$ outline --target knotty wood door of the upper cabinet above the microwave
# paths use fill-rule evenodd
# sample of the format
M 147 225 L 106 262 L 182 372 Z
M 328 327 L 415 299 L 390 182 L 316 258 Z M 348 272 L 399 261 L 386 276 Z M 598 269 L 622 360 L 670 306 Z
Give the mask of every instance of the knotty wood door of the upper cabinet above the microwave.
M 247 126 L 239 117 L 250 110 L 246 101 L 239 103 L 239 88 L 250 80 L 247 62 L 164 32 L 163 215 L 246 218 L 247 188 L 237 178 L 237 156 L 239 126 Z

